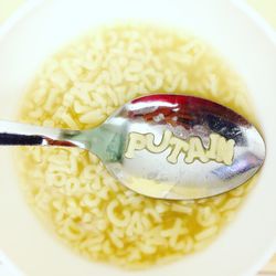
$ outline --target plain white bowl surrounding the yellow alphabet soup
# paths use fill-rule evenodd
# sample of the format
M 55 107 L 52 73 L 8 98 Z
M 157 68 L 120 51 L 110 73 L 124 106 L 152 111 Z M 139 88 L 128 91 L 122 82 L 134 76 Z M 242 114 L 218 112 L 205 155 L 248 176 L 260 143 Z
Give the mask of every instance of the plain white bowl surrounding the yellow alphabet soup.
M 236 220 L 204 252 L 171 265 L 123 272 L 89 263 L 61 245 L 36 221 L 18 189 L 10 149 L 0 151 L 0 250 L 26 275 L 254 275 L 276 243 L 276 39 L 240 1 L 59 0 L 26 4 L 0 33 L 0 118 L 12 119 L 38 65 L 89 28 L 138 19 L 191 30 L 217 47 L 244 77 L 256 104 L 267 158 Z M 245 8 L 245 9 L 244 9 Z M 265 28 L 264 28 L 265 26 Z

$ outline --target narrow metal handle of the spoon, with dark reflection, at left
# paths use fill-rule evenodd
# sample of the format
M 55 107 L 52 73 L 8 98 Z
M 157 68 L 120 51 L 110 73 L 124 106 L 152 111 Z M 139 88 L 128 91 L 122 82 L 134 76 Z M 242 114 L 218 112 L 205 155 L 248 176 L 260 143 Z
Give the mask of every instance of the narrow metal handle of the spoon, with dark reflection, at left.
M 0 146 L 63 146 L 86 148 L 82 131 L 0 120 Z

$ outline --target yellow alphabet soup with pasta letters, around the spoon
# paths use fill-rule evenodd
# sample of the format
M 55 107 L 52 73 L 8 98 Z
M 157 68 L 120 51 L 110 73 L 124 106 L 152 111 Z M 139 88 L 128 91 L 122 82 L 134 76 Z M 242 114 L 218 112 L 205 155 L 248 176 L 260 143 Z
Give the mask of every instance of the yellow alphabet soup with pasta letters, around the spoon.
M 251 121 L 246 87 L 206 43 L 153 25 L 92 31 L 42 66 L 21 106 L 21 121 L 93 128 L 135 97 L 180 93 L 215 100 Z M 137 194 L 96 156 L 70 148 L 21 148 L 22 190 L 35 213 L 92 261 L 141 268 L 205 247 L 231 221 L 253 180 L 197 201 Z

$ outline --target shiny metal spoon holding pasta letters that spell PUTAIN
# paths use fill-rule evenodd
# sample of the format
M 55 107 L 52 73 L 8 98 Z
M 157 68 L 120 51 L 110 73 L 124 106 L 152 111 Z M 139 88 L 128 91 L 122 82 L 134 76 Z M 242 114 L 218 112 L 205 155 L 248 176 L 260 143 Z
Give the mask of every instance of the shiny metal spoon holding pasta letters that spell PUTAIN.
M 262 167 L 265 142 L 241 115 L 199 97 L 150 95 L 84 131 L 0 121 L 0 145 L 78 147 L 129 189 L 191 200 L 227 192 Z

